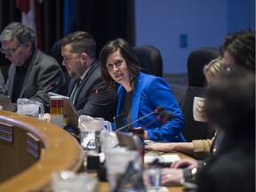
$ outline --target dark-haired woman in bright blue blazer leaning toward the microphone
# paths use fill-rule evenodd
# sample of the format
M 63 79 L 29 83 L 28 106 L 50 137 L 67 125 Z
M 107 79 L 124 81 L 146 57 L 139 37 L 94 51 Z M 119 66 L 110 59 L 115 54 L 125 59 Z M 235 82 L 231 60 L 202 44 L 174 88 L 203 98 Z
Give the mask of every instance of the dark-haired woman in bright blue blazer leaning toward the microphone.
M 132 50 L 132 45 L 122 38 L 108 42 L 100 52 L 102 79 L 108 88 L 117 90 L 118 106 L 116 116 L 125 114 L 127 123 L 147 116 L 159 106 L 172 113 L 167 122 L 158 120 L 159 114 L 153 113 L 132 127 L 145 130 L 145 140 L 185 141 L 181 134 L 185 120 L 175 100 L 170 85 L 164 78 L 140 72 L 140 62 Z

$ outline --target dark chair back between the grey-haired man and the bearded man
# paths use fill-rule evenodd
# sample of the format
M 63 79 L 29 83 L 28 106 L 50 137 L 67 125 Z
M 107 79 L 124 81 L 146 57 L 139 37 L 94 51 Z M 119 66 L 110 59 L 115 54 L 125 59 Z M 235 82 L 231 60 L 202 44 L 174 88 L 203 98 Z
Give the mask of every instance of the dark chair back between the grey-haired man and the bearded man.
M 62 66 L 63 58 L 62 58 L 62 55 L 61 55 L 61 44 L 60 44 L 60 41 L 57 41 L 57 42 L 55 42 L 52 45 L 51 55 L 60 64 L 60 68 L 62 69 L 62 71 L 64 73 L 64 76 L 65 76 L 65 79 L 66 79 L 65 89 L 66 89 L 66 91 L 68 91 L 68 86 L 69 86 L 69 83 L 70 83 L 70 77 L 68 76 L 67 69 L 64 66 Z

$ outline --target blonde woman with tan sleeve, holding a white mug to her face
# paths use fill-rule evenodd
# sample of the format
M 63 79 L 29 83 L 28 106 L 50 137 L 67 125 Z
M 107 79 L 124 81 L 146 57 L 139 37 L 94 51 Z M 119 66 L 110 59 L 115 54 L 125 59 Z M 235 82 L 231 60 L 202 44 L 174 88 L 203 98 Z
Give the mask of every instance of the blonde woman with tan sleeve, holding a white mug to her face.
M 206 78 L 208 87 L 220 76 L 223 76 L 223 59 L 221 57 L 210 61 L 207 65 L 204 66 L 204 76 Z M 199 100 L 199 103 L 196 103 L 198 113 L 204 116 L 204 101 Z M 206 119 L 207 117 L 204 116 Z M 206 119 L 207 120 L 207 119 Z M 221 133 L 220 133 L 221 134 Z M 189 156 L 194 156 L 196 159 L 204 159 L 206 156 L 209 156 L 211 153 L 217 151 L 217 141 L 214 140 L 215 136 L 221 137 L 219 135 L 219 129 L 216 129 L 215 135 L 212 140 L 192 140 L 192 142 L 155 142 L 149 143 L 145 146 L 146 149 L 155 150 L 155 151 L 179 151 L 185 153 Z M 214 145 L 212 146 L 212 142 Z M 211 149 L 211 150 L 210 150 Z

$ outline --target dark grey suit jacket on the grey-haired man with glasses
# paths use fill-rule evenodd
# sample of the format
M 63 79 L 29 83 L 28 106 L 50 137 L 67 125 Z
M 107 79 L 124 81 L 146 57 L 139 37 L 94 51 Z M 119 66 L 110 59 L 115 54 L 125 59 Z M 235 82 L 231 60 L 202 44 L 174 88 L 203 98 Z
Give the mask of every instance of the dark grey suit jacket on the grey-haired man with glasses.
M 13 98 L 15 86 L 15 74 L 16 67 L 14 65 L 11 65 L 9 69 L 9 79 L 7 80 L 6 84 L 8 95 L 10 96 L 11 100 Z M 49 84 L 52 84 L 52 82 L 56 83 L 53 88 L 45 92 L 41 92 Z M 63 93 L 64 84 L 65 78 L 63 75 L 63 71 L 60 68 L 60 64 L 57 62 L 57 60 L 36 49 L 32 56 L 32 60 L 28 67 L 27 75 L 22 85 L 20 98 L 29 99 L 36 95 L 37 92 L 41 92 L 34 98 L 34 100 L 38 100 L 43 103 L 45 112 L 49 112 L 50 98 L 47 92 L 51 91 L 56 93 Z

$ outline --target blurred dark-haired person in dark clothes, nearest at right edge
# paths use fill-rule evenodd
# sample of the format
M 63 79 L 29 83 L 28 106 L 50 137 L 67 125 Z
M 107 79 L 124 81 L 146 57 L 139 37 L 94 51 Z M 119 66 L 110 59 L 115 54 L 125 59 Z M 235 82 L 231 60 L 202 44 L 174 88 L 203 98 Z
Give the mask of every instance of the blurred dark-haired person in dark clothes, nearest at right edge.
M 198 173 L 199 192 L 255 191 L 255 76 L 241 69 L 213 84 L 206 114 L 225 136 Z

